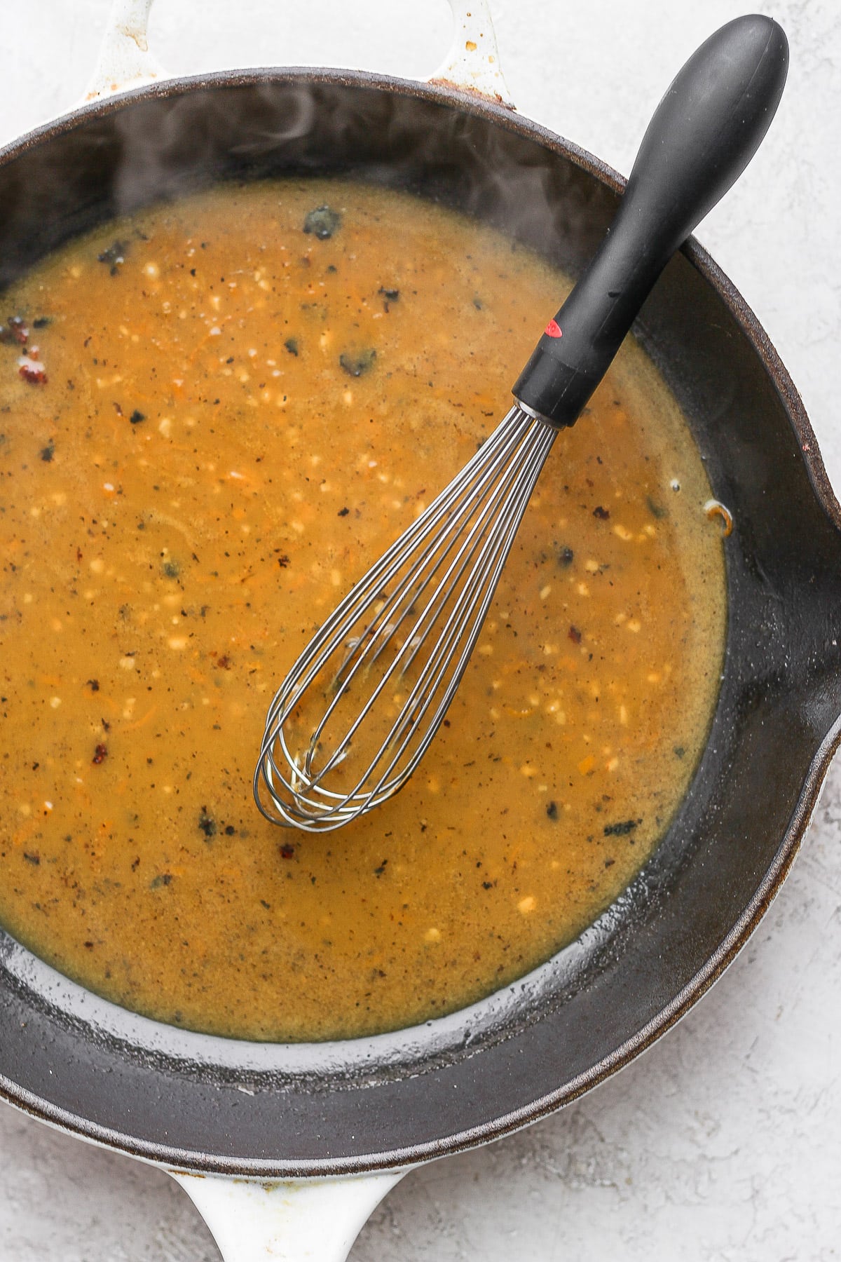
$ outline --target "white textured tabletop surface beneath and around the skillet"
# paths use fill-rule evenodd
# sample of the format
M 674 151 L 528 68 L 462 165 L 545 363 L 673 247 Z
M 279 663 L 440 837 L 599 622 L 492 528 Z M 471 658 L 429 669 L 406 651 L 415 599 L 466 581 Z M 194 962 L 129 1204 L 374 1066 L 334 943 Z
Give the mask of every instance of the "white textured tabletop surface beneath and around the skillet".
M 499 0 L 493 11 L 521 111 L 627 172 L 677 67 L 746 8 Z M 841 5 L 758 8 L 788 32 L 787 93 L 763 150 L 699 235 L 765 324 L 841 488 Z M 106 11 L 107 0 L 0 0 L 0 140 L 79 96 Z M 178 71 L 272 61 L 424 74 L 448 39 L 444 0 L 158 0 L 153 20 L 155 50 Z M 409 1175 L 363 1229 L 354 1262 L 841 1257 L 840 843 L 836 765 L 791 878 L 700 1007 L 564 1113 Z M 0 1160 L 1 1262 L 218 1259 L 158 1170 L 8 1108 Z

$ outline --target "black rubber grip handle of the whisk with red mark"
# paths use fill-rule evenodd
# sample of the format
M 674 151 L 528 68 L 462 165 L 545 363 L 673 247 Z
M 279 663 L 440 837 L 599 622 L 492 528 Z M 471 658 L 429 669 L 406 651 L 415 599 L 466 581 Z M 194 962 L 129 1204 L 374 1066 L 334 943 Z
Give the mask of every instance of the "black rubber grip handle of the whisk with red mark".
M 692 54 L 648 125 L 608 236 L 513 387 L 527 411 L 559 428 L 577 420 L 672 254 L 759 148 L 787 71 L 786 34 L 759 14 Z

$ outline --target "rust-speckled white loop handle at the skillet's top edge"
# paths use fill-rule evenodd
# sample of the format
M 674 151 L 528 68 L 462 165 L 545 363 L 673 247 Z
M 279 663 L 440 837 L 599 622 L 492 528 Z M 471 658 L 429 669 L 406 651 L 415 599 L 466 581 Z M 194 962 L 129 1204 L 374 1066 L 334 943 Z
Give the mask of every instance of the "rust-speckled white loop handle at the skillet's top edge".
M 449 4 L 455 24 L 453 44 L 430 82 L 479 93 L 513 109 L 499 69 L 488 0 L 449 0 Z M 153 0 L 112 0 L 96 69 L 81 105 L 173 77 L 149 50 L 151 5 Z

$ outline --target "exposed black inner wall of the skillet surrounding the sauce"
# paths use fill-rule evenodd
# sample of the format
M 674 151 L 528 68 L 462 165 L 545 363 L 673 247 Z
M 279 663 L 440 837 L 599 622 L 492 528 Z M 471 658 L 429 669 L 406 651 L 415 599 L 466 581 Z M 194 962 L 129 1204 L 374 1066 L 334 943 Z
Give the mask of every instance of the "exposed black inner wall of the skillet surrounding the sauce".
M 214 76 L 88 107 L 0 155 L 0 285 L 117 212 L 221 178 L 300 172 L 440 198 L 571 273 L 603 236 L 619 188 L 565 141 L 444 88 L 338 72 Z M 697 246 L 672 260 L 638 334 L 735 529 L 709 746 L 634 885 L 506 992 L 422 1027 L 333 1045 L 255 1045 L 160 1026 L 86 993 L 6 938 L 8 1099 L 197 1170 L 400 1165 L 502 1135 L 574 1098 L 673 1023 L 728 964 L 791 863 L 838 741 L 838 511 L 788 376 Z

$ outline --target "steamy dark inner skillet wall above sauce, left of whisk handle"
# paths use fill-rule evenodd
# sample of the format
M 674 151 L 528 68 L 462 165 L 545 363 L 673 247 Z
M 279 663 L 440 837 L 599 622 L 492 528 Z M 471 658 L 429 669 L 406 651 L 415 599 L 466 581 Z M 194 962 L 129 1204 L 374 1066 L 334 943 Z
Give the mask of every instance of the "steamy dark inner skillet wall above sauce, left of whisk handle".
M 0 168 L 0 286 L 115 215 L 222 179 L 294 174 L 409 189 L 576 273 L 615 198 L 532 131 L 438 88 L 338 72 L 219 74 L 106 101 Z

